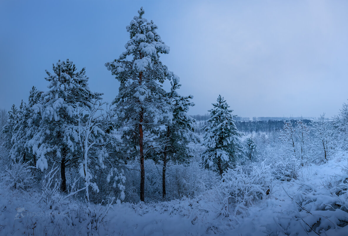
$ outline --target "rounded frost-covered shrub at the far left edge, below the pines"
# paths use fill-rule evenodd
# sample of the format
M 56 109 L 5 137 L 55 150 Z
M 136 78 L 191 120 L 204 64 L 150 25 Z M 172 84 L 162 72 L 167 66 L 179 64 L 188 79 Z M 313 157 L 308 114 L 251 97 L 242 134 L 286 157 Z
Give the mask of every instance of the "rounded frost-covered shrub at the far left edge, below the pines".
M 20 161 L 11 162 L 10 167 L 5 167 L 4 180 L 10 189 L 26 190 L 34 184 L 30 162 L 22 163 Z

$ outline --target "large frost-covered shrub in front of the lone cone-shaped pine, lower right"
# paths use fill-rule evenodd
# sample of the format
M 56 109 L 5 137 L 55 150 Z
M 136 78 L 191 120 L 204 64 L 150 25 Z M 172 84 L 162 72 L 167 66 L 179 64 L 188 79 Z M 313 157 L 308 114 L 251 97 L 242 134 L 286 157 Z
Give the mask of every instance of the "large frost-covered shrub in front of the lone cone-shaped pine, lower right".
M 273 177 L 271 169 L 263 162 L 253 165 L 250 172 L 241 166 L 222 174 L 219 189 L 222 194 L 222 214 L 246 215 L 248 207 L 270 193 Z

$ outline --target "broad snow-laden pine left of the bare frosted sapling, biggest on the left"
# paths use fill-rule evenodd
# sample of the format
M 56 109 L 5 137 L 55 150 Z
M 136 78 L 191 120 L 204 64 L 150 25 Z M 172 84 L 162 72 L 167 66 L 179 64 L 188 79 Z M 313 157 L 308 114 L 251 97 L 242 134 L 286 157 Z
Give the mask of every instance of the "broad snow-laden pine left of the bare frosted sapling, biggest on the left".
M 53 74 L 46 70 L 48 91 L 41 94 L 40 102 L 33 105 L 34 114 L 40 114 L 38 129 L 26 147 L 38 158 L 36 167 L 48 167 L 50 155 L 53 162 L 61 165 L 61 190 L 66 191 L 65 167 L 77 159 L 80 153 L 78 137 L 73 129 L 76 126 L 74 109 L 90 106 L 92 99 L 100 99 L 101 93 L 91 92 L 85 68 L 76 70 L 71 61 L 58 61 L 53 64 Z

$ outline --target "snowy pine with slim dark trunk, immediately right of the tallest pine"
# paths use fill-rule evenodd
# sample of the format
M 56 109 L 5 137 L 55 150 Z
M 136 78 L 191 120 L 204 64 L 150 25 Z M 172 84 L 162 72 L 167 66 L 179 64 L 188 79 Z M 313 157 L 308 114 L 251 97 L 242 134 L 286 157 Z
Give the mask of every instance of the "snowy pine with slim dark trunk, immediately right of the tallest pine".
M 173 75 L 171 91 L 167 94 L 168 103 L 171 107 L 173 119 L 165 123 L 165 129 L 160 131 L 156 139 L 159 148 L 149 153 L 150 158 L 163 163 L 162 169 L 162 197 L 166 198 L 166 168 L 167 162 L 185 163 L 192 157 L 188 147 L 189 142 L 199 143 L 200 137 L 195 134 L 196 120 L 187 113 L 190 106 L 195 104 L 191 101 L 192 95 L 181 96 L 177 89 L 181 87 L 178 76 Z

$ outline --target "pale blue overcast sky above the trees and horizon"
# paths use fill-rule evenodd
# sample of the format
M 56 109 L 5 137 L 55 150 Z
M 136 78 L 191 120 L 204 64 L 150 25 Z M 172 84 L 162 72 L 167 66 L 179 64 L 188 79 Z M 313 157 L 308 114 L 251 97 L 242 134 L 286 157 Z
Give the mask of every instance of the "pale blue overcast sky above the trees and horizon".
M 86 67 L 112 101 L 104 63 L 129 39 L 143 6 L 170 46 L 161 56 L 204 114 L 221 94 L 239 116 L 319 116 L 348 99 L 348 1 L 0 1 L 0 108 L 47 90 L 58 59 Z

